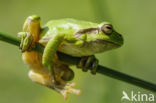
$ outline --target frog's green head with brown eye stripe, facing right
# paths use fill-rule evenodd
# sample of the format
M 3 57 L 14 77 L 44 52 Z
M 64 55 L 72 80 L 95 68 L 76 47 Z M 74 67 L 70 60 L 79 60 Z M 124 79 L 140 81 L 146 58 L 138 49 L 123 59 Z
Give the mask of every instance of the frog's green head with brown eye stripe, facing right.
M 83 41 L 83 45 L 94 52 L 118 48 L 123 45 L 123 37 L 117 33 L 109 22 L 103 22 L 97 27 L 81 29 L 76 33 Z

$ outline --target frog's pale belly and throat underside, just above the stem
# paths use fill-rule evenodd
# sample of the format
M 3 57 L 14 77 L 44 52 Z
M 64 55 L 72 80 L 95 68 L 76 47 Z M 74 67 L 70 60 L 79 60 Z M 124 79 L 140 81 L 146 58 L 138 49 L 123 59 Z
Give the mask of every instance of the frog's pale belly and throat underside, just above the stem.
M 81 56 L 89 56 L 94 55 L 95 53 L 104 52 L 106 50 L 112 49 L 113 44 L 110 43 L 97 43 L 97 42 L 91 42 L 91 43 L 85 43 L 82 46 L 76 46 L 71 43 L 63 43 L 60 45 L 58 51 L 71 55 L 76 57 Z

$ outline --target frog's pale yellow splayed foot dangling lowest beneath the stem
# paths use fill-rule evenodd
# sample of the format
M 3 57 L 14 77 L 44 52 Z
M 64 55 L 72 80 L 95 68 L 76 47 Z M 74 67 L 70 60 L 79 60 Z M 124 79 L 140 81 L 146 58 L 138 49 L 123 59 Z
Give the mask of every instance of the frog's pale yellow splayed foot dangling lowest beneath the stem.
M 55 87 L 55 90 L 57 90 L 60 94 L 62 94 L 62 96 L 66 100 L 68 99 L 68 93 L 76 94 L 76 95 L 81 94 L 81 90 L 73 88 L 75 86 L 76 86 L 75 83 L 66 83 L 61 89 Z

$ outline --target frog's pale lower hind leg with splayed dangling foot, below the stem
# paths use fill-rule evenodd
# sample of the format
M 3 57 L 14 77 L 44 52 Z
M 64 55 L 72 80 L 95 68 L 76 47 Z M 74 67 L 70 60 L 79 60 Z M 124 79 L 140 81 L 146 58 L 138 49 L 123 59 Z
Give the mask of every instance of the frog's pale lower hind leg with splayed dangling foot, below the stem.
M 76 86 L 75 83 L 66 83 L 61 82 L 60 84 L 54 83 L 53 78 L 50 74 L 43 74 L 39 72 L 34 72 L 33 70 L 29 71 L 29 78 L 38 84 L 51 88 L 61 95 L 63 95 L 64 99 L 68 98 L 68 93 L 80 95 L 81 91 L 78 89 L 74 89 Z

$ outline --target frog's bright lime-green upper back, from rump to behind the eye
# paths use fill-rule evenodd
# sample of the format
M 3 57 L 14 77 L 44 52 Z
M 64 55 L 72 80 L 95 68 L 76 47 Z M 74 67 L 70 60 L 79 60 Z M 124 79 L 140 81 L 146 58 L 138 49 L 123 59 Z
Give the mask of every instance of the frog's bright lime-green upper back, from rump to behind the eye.
M 64 32 L 68 35 L 73 35 L 80 29 L 94 27 L 97 27 L 96 23 L 70 18 L 51 20 L 43 27 L 42 32 L 40 34 L 40 39 L 43 37 L 49 37 L 53 34 L 58 34 L 59 32 Z

